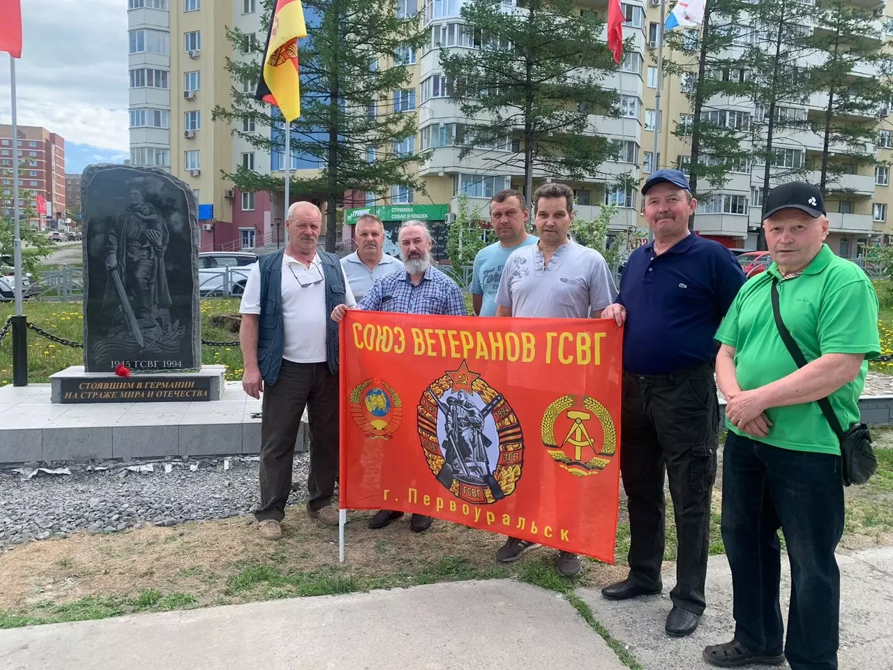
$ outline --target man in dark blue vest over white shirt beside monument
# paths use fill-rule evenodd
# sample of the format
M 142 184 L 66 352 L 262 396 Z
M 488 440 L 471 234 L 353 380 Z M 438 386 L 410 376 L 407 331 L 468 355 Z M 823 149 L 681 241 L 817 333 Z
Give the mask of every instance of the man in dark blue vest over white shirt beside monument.
M 246 282 L 239 312 L 245 360 L 242 388 L 263 393 L 258 532 L 280 540 L 291 491 L 292 459 L 305 406 L 310 419 L 307 514 L 338 525 L 332 494 L 338 478 L 338 323 L 335 306 L 355 306 L 338 256 L 316 243 L 325 232 L 312 203 L 288 208 L 288 246 L 262 255 Z

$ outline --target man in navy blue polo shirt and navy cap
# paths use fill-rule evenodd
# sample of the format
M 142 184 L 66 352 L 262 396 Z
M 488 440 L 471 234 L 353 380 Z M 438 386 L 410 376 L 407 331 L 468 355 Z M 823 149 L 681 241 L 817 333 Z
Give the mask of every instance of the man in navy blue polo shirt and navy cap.
M 631 535 L 630 574 L 602 594 L 625 600 L 663 590 L 668 474 L 679 549 L 665 630 L 682 636 L 705 607 L 720 428 L 714 336 L 745 276 L 727 248 L 689 231 L 697 201 L 682 172 L 652 173 L 642 197 L 654 242 L 630 255 L 617 302 L 602 314 L 626 324 L 620 465 Z

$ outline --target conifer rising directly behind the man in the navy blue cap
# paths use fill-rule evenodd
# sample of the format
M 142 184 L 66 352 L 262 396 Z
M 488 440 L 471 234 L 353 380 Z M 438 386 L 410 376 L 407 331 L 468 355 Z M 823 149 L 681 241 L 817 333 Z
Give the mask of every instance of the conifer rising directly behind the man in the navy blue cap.
M 750 71 L 740 47 L 753 38 L 742 22 L 747 0 L 707 0 L 700 35 L 696 30 L 667 33 L 663 70 L 682 80 L 692 108 L 687 123 L 676 122 L 673 134 L 691 142 L 687 165 L 692 194 L 710 197 L 729 181 L 729 172 L 742 172 L 752 151 L 748 146 L 751 116 L 730 110 L 730 102 L 752 96 Z M 694 215 L 689 220 L 693 226 Z

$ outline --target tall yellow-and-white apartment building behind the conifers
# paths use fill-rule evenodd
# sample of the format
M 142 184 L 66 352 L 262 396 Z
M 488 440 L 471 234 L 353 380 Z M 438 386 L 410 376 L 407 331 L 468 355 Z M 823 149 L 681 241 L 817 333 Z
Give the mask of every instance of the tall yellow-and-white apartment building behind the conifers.
M 480 48 L 463 33 L 462 2 L 396 0 L 395 5 L 398 15 L 423 13 L 423 27 L 430 32 L 430 39 L 418 53 L 403 54 L 405 62 L 410 63 L 412 79 L 405 88 L 394 91 L 392 100 L 382 101 L 379 109 L 417 115 L 418 135 L 406 138 L 394 150 L 431 150 L 430 158 L 417 168 L 427 196 L 394 187 L 384 197 L 373 193 L 346 194 L 344 201 L 347 222 L 372 207 L 388 218 L 390 230 L 407 218 L 433 222 L 441 250 L 446 247 L 446 225 L 437 224 L 445 224 L 456 213 L 461 195 L 468 197 L 472 210 L 484 215 L 489 197 L 501 188 L 523 190 L 521 170 L 505 167 L 503 159 L 510 146 L 476 149 L 472 155 L 459 158 L 456 130 L 473 120 L 463 118 L 448 99 L 439 54 L 444 49 Z M 504 0 L 504 4 L 516 2 Z M 606 0 L 580 0 L 581 12 L 596 12 L 603 19 L 606 7 Z M 616 180 L 622 174 L 629 174 L 641 181 L 657 167 L 684 166 L 689 159 L 689 142 L 675 137 L 672 131 L 676 122 L 690 119 L 691 106 L 685 95 L 689 78 L 666 76 L 662 82 L 661 110 L 655 113 L 659 83 L 655 56 L 663 23 L 659 3 L 629 0 L 622 3 L 622 8 L 627 18 L 624 37 L 632 38 L 633 46 L 624 54 L 619 71 L 604 82 L 605 87 L 614 88 L 620 94 L 621 116 L 592 114 L 590 117 L 592 132 L 617 140 L 622 155 L 617 161 L 604 163 L 596 175 L 571 186 L 577 196 L 578 216 L 595 218 L 602 205 L 618 205 L 620 209 L 613 217 L 611 228 L 618 239 L 625 236 L 625 241 L 630 243 L 632 237 L 641 238 L 641 229 L 646 223 L 640 214 L 638 189 L 619 187 Z M 254 46 L 263 45 L 266 37 L 266 29 L 261 25 L 260 1 L 128 0 L 128 9 L 131 163 L 169 169 L 195 189 L 203 248 L 256 247 L 274 240 L 275 222 L 284 210 L 282 197 L 240 193 L 221 179 L 221 171 L 232 172 L 236 165 L 242 164 L 258 172 L 281 174 L 284 154 L 259 152 L 246 139 L 233 135 L 229 124 L 211 120 L 215 105 L 230 105 L 233 90 L 250 92 L 255 87 L 255 82 L 232 81 L 225 61 L 227 57 L 257 58 Z M 305 12 L 308 30 L 312 32 L 318 17 L 309 8 Z M 879 26 L 887 21 L 887 13 L 885 5 L 879 4 L 875 11 Z M 226 37 L 228 27 L 236 27 L 248 36 L 243 48 L 233 48 Z M 885 34 L 893 35 L 893 32 L 886 28 Z M 604 30 L 600 38 L 605 40 Z M 863 74 L 872 76 L 867 68 Z M 816 95 L 808 105 L 781 113 L 808 119 L 817 116 L 826 101 L 826 97 Z M 764 111 L 755 108 L 752 102 L 712 99 L 707 101 L 705 111 L 722 122 L 754 129 L 745 133 L 743 141 L 759 146 L 762 138 L 755 120 L 762 119 Z M 873 150 L 880 158 L 893 160 L 893 125 L 889 119 L 889 116 L 880 117 L 878 145 Z M 253 121 L 244 119 L 237 130 L 255 132 L 253 125 Z M 256 131 L 270 132 L 261 128 Z M 658 135 L 656 157 L 655 132 Z M 271 138 L 281 145 L 282 135 L 283 129 L 274 128 Z M 822 138 L 809 130 L 777 127 L 773 147 L 778 150 L 783 165 L 813 165 L 821 156 Z M 886 233 L 888 208 L 893 206 L 889 196 L 889 168 L 842 167 L 844 172 L 851 173 L 844 174 L 831 188 L 829 243 L 840 255 L 854 256 Z M 293 172 L 312 176 L 319 168 L 319 163 L 311 157 L 291 156 Z M 763 172 L 763 166 L 747 163 L 738 172 L 730 173 L 728 183 L 701 203 L 696 217 L 697 233 L 729 247 L 755 248 Z M 550 179 L 551 175 L 536 172 L 534 188 Z M 806 179 L 817 182 L 818 173 L 808 172 Z M 774 184 L 772 181 L 771 185 Z M 279 234 L 282 235 L 281 230 Z

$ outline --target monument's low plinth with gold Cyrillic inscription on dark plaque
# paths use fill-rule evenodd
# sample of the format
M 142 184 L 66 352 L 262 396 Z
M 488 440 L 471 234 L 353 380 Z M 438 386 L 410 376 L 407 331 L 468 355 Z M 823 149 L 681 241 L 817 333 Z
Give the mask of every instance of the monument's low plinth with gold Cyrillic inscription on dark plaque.
M 71 365 L 50 375 L 50 399 L 54 403 L 160 403 L 213 402 L 221 399 L 226 367 L 203 365 L 197 372 L 88 373 L 83 365 Z

